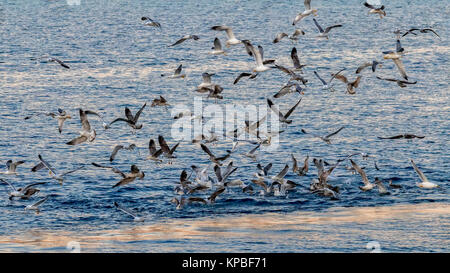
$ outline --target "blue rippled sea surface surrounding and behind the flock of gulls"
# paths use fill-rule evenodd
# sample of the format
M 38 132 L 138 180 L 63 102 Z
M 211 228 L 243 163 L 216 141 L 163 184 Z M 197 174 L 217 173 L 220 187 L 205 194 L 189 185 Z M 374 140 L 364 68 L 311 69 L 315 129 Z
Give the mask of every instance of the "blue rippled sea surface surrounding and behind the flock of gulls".
M 145 229 L 148 223 L 164 229 L 165 224 L 167 227 L 174 223 L 182 225 L 184 221 L 221 223 L 229 217 L 253 219 L 257 215 L 269 215 L 262 218 L 265 219 L 263 221 L 273 218 L 283 223 L 291 213 L 307 211 L 320 215 L 326 212 L 332 216 L 335 213 L 331 209 L 333 207 L 340 208 L 340 211 L 344 211 L 342 213 L 345 213 L 345 208 L 348 207 L 384 207 L 389 213 L 390 207 L 399 204 L 426 205 L 430 202 L 433 202 L 432 206 L 447 209 L 438 216 L 442 222 L 429 228 L 431 234 L 439 233 L 431 238 L 443 238 L 448 242 L 450 47 L 447 39 L 447 18 L 450 9 L 445 1 L 432 1 L 433 4 L 423 1 L 389 2 L 386 3 L 388 15 L 380 20 L 376 15 L 367 16 L 367 9 L 359 1 L 346 1 L 346 4 L 343 4 L 341 1 L 313 0 L 313 6 L 319 10 L 316 18 L 322 26 L 341 23 L 343 27 L 332 30 L 329 40 L 317 40 L 314 37 L 316 29 L 311 17 L 300 23 L 306 35 L 301 37 L 295 46 L 301 62 L 308 65 L 305 68 L 305 76 L 310 82 L 299 108 L 293 113 L 293 123 L 285 128 L 280 137 L 280 147 L 259 156 L 263 164 L 273 162 L 272 173 L 275 173 L 281 170 L 285 163 L 291 164 L 291 153 L 294 153 L 299 161 L 309 154 L 311 157 L 334 162 L 339 157 L 353 152 L 365 152 L 375 156 L 380 167 L 380 171 L 376 171 L 372 160 L 363 161 L 356 158 L 360 165 L 366 167 L 369 179 L 393 178 L 395 183 L 403 186 L 401 190 L 392 191 L 391 195 L 379 196 L 375 191 L 361 192 L 358 189 L 358 186 L 362 185 L 361 177 L 352 175 L 343 167 L 344 164 L 333 172 L 331 179 L 333 185 L 342 188 L 341 199 L 337 201 L 312 195 L 302 187 L 290 192 L 287 197 L 262 197 L 232 189 L 220 195 L 214 205 L 192 205 L 183 210 L 176 210 L 170 200 L 175 196 L 173 186 L 178 181 L 180 172 L 189 169 L 192 164 L 206 166 L 208 157 L 197 146 L 183 142 L 176 151 L 178 158 L 173 164 L 156 165 L 145 161 L 149 138 L 156 139 L 162 134 L 166 136 L 170 146 L 175 144 L 170 136 L 173 120 L 170 111 L 164 108 L 147 107 L 140 118 L 144 127 L 136 135 L 125 126 L 115 126 L 104 131 L 101 122 L 90 118 L 91 125 L 98 132 L 97 139 L 93 143 L 74 147 L 65 144 L 76 137 L 80 130 L 77 114 L 79 107 L 98 111 L 105 115 L 106 119 L 112 120 L 123 115 L 125 106 L 136 112 L 143 103 L 150 103 L 159 95 L 167 98 L 172 105 L 192 105 L 196 95 L 194 89 L 201 82 L 201 74 L 206 71 L 216 73 L 214 81 L 224 88 L 224 99 L 219 105 L 265 105 L 265 98 L 275 94 L 288 80 L 287 77 L 279 71 L 267 71 L 255 80 L 243 79 L 233 85 L 239 73 L 249 71 L 253 67 L 253 59 L 246 55 L 241 45 L 226 49 L 226 56 L 206 54 L 215 37 L 219 37 L 222 43 L 225 41 L 224 33 L 214 32 L 209 28 L 218 24 L 232 26 L 238 38 L 249 39 L 255 45 L 262 45 L 267 58 L 275 58 L 279 63 L 291 66 L 289 54 L 293 44 L 287 39 L 275 45 L 271 41 L 279 32 L 293 32 L 290 24 L 296 13 L 303 9 L 301 2 L 81 0 L 80 5 L 68 5 L 66 1 L 2 1 L 0 161 L 13 159 L 25 160 L 26 163 L 18 167 L 18 176 L 2 175 L 1 178 L 16 186 L 31 182 L 49 182 L 40 187 L 39 195 L 51 195 L 51 198 L 42 206 L 39 215 L 24 213 L 24 206 L 38 197 L 30 201 L 9 201 L 9 188 L 6 185 L 0 187 L 0 194 L 3 196 L 0 198 L 0 235 L 3 242 L 0 244 L 0 250 L 47 249 L 48 245 L 41 246 L 30 238 L 45 237 L 48 233 L 60 234 L 61 238 L 70 234 L 72 240 L 79 237 L 82 241 L 83 238 L 86 239 L 83 236 L 92 235 L 92 232 L 98 236 L 120 234 L 130 229 Z M 159 21 L 162 30 L 142 25 L 142 16 L 150 16 Z M 353 96 L 344 94 L 345 86 L 340 83 L 336 85 L 337 91 L 334 93 L 321 89 L 320 82 L 312 73 L 314 70 L 327 78 L 329 73 L 346 67 L 345 75 L 353 80 L 353 71 L 359 64 L 381 59 L 381 51 L 395 47 L 395 36 L 392 32 L 396 28 L 408 29 L 412 26 L 432 26 L 442 38 L 438 39 L 432 34 L 419 34 L 408 35 L 402 39 L 406 50 L 403 62 L 411 80 L 417 80 L 416 85 L 400 88 L 395 83 L 379 81 L 371 72 L 365 71 L 360 87 Z M 186 41 L 173 48 L 167 47 L 185 34 L 197 34 L 200 40 Z M 56 64 L 32 60 L 42 55 L 60 58 L 71 69 L 64 70 Z M 185 79 L 161 78 L 161 74 L 171 73 L 180 63 L 187 74 Z M 389 60 L 385 60 L 378 73 L 386 77 L 399 77 L 395 65 Z M 274 101 L 286 111 L 284 109 L 293 105 L 298 96 L 291 94 Z M 213 101 L 203 103 L 206 106 Z M 30 113 L 56 111 L 59 107 L 74 117 L 65 123 L 61 135 L 57 133 L 55 120 L 23 119 Z M 346 128 L 336 136 L 331 145 L 300 132 L 300 129 L 304 128 L 326 133 L 340 126 Z M 385 141 L 377 138 L 400 133 L 426 137 L 413 141 Z M 116 174 L 89 165 L 85 170 L 70 175 L 63 186 L 50 180 L 44 171 L 29 171 L 38 162 L 39 153 L 62 172 L 92 161 L 108 164 L 109 153 L 115 144 L 130 143 L 136 143 L 140 147 L 141 155 L 121 151 L 112 165 L 128 170 L 131 164 L 137 164 L 144 170 L 146 177 L 143 181 L 135 181 L 123 188 L 111 189 L 118 181 Z M 211 149 L 221 154 L 230 149 L 231 145 L 231 141 L 226 140 Z M 250 149 L 251 146 L 242 145 L 232 156 L 235 165 L 239 167 L 233 179 L 239 178 L 250 183 L 252 173 L 256 171 L 256 164 L 240 155 Z M 440 188 L 418 188 L 415 183 L 419 178 L 412 169 L 410 158 L 413 158 L 429 180 L 439 184 Z M 308 186 L 316 174 L 317 171 L 312 166 L 306 177 L 300 178 L 292 172 L 286 177 Z M 116 211 L 114 201 L 135 209 L 147 219 L 146 223 L 131 222 L 127 215 Z M 370 210 L 368 211 L 370 213 Z M 331 236 L 329 231 L 320 232 L 317 229 L 321 227 L 302 222 L 302 214 L 298 215 L 300 216 L 293 219 L 314 230 L 315 236 L 334 240 L 335 234 Z M 357 230 L 357 221 L 356 218 L 339 225 L 348 227 L 349 230 Z M 392 227 L 395 227 L 396 234 L 400 235 L 405 235 L 410 230 L 399 223 L 411 222 L 418 228 L 421 226 L 420 222 L 408 217 L 398 220 L 397 223 L 395 221 L 393 218 Z M 389 227 L 377 225 L 377 229 L 382 230 Z M 302 233 L 292 226 L 287 226 L 286 230 L 289 236 Z M 151 232 L 151 228 L 145 232 Z M 208 247 L 208 244 L 215 241 L 224 251 L 358 251 L 351 244 L 326 245 L 327 240 L 324 239 L 311 239 L 316 242 L 312 244 L 313 248 L 290 244 L 289 241 L 283 241 L 280 248 L 267 248 L 267 245 L 277 244 L 277 241 L 270 241 L 271 232 L 273 231 L 270 228 L 261 228 L 260 237 L 255 239 L 261 242 L 260 245 L 239 239 L 226 241 L 214 236 L 195 243 L 199 250 L 206 251 L 215 251 Z M 370 232 L 377 233 L 380 230 L 372 229 Z M 230 233 L 229 236 L 242 238 L 247 233 L 244 230 L 240 235 L 233 234 Z M 15 238 L 14 243 L 5 240 L 5 236 Z M 340 241 L 355 240 L 349 232 L 340 236 Z M 364 245 L 366 239 L 368 241 L 371 236 L 356 237 Z M 170 235 L 161 236 L 159 240 L 145 236 L 142 239 L 139 236 L 137 239 L 126 237 L 123 241 L 110 243 L 108 249 L 185 251 L 190 249 L 189 244 L 193 243 L 189 236 L 184 234 L 172 239 Z M 389 242 L 388 239 L 387 241 Z M 414 247 L 408 245 L 406 239 L 392 239 L 391 242 L 393 241 L 398 242 L 398 245 Z M 187 246 L 185 243 L 188 243 Z M 446 245 L 447 248 L 445 245 L 427 244 L 418 251 L 448 251 L 449 244 Z M 60 244 L 58 246 L 61 247 Z M 410 251 L 411 248 L 399 247 L 391 250 Z M 64 251 L 64 248 L 49 251 Z M 105 249 L 94 246 L 90 251 Z

